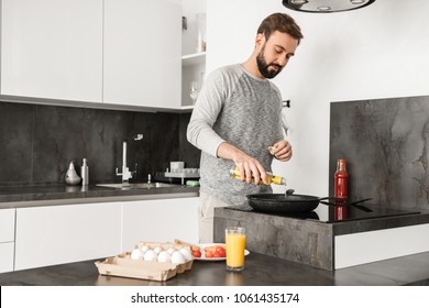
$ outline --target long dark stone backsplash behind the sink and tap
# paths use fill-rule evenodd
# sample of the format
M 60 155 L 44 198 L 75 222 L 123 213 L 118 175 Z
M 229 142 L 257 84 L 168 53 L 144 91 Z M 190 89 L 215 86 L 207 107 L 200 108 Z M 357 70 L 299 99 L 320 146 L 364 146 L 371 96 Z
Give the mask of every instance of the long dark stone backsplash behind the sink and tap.
M 128 166 L 146 180 L 169 162 L 198 167 L 200 152 L 186 140 L 190 113 L 148 113 L 89 108 L 0 102 L 0 185 L 64 184 L 72 161 L 79 173 L 88 158 L 89 180 L 119 182 L 122 141 L 129 143 Z

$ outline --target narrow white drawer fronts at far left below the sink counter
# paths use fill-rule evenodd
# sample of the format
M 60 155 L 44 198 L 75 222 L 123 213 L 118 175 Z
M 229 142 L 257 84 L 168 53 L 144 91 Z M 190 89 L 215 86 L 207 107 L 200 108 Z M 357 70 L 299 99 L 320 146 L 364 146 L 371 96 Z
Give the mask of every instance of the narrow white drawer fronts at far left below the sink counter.
M 0 273 L 13 271 L 15 209 L 0 210 Z

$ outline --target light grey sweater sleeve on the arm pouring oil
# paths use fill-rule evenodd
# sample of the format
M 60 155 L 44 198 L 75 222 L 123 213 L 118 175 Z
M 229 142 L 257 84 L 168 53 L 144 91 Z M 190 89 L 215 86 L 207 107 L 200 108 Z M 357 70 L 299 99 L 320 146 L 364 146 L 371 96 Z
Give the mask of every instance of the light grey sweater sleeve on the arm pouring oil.
M 227 97 L 224 78 L 220 70 L 210 74 L 198 95 L 187 128 L 187 140 L 199 150 L 217 156 L 219 145 L 224 140 L 213 130 Z

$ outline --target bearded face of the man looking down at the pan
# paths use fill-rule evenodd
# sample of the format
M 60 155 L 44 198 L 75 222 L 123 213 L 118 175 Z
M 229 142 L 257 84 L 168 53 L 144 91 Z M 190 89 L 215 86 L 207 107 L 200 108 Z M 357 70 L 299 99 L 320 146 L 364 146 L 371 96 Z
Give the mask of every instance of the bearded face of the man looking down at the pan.
M 264 34 L 258 35 L 261 50 L 256 56 L 257 68 L 263 77 L 271 79 L 277 76 L 295 55 L 298 41 L 278 31 L 274 32 L 268 41 L 265 41 Z

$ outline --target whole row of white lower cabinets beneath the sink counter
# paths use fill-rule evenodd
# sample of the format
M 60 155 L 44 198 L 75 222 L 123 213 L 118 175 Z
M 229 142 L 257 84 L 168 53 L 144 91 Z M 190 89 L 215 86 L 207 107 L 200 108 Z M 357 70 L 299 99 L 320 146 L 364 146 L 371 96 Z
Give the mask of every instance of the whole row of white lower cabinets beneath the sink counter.
M 105 258 L 141 241 L 197 243 L 197 208 L 190 197 L 0 210 L 0 273 Z

